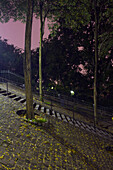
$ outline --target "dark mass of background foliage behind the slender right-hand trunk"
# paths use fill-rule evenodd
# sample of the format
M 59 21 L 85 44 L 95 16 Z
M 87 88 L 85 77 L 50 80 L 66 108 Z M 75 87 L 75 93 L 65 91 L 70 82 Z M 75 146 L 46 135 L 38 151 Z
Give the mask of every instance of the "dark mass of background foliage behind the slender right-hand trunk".
M 97 90 L 98 90 L 98 99 L 100 102 L 101 97 L 110 94 L 109 90 L 111 91 L 112 89 L 111 85 L 113 81 L 112 81 L 111 75 L 112 75 L 112 70 L 113 70 L 112 69 L 113 67 L 113 64 L 112 64 L 112 40 L 113 38 L 112 38 L 112 22 L 111 22 L 112 17 L 110 17 L 110 21 L 109 21 L 109 18 L 108 18 L 109 9 L 106 8 L 106 5 L 108 5 L 108 2 L 98 1 L 97 5 L 98 5 L 98 15 L 99 15 L 99 25 L 98 25 L 99 27 L 98 28 L 99 29 L 98 30 L 99 57 L 98 57 Z M 60 8 L 58 10 L 60 10 Z M 69 32 L 67 32 L 67 39 L 65 38 L 63 40 L 62 29 L 66 30 L 66 27 L 67 27 L 65 25 L 66 18 L 62 17 L 62 15 L 60 15 L 59 18 L 58 16 L 56 16 L 57 23 L 55 23 L 55 27 L 56 25 L 58 26 L 56 27 L 57 28 L 55 30 L 56 32 L 55 34 L 54 32 L 53 34 L 51 34 L 50 39 L 46 41 L 46 45 L 44 46 L 44 50 L 45 50 L 44 55 L 45 55 L 45 60 L 47 61 L 46 62 L 47 70 L 45 71 L 47 74 L 45 77 L 48 77 L 48 81 L 51 83 L 51 85 L 55 85 L 55 80 L 57 80 L 57 82 L 59 82 L 59 84 L 61 83 L 64 88 L 66 88 L 65 84 L 67 84 L 67 86 L 70 87 L 70 84 L 66 83 L 66 81 L 73 82 L 73 77 L 76 77 L 76 79 L 79 81 L 81 79 L 83 80 L 84 78 L 82 82 L 86 83 L 86 86 L 83 83 L 78 84 L 79 88 L 83 88 L 83 91 L 81 90 L 82 93 L 85 93 L 86 89 L 87 90 L 93 89 L 94 64 L 95 64 L 94 62 L 94 55 L 95 55 L 94 54 L 94 50 L 95 50 L 94 7 L 90 4 L 90 9 L 88 10 L 89 10 L 89 16 L 91 16 L 91 20 L 89 21 L 88 24 L 84 23 L 80 25 L 81 28 L 79 28 L 79 30 L 77 30 L 76 32 L 75 32 L 75 29 L 72 27 L 74 26 L 73 24 L 72 26 L 70 26 L 71 23 L 70 25 L 68 25 L 68 29 L 70 29 L 70 27 L 73 28 L 73 29 L 70 29 L 73 34 L 72 39 L 70 39 L 70 34 Z M 75 21 L 76 21 L 76 16 L 75 16 Z M 53 25 L 53 30 L 55 27 Z M 64 45 L 64 42 L 65 42 L 65 45 Z M 77 47 L 82 46 L 83 50 L 79 52 L 77 52 L 77 50 L 73 51 L 72 45 L 75 49 L 77 49 Z M 56 47 L 57 47 L 57 51 L 56 51 Z M 76 52 L 77 52 L 77 55 L 76 55 Z M 73 61 L 75 63 L 76 63 L 76 60 L 78 60 L 78 65 L 82 64 L 84 66 L 87 72 L 85 76 L 83 75 L 80 76 L 82 78 L 80 78 L 79 76 L 78 77 L 74 76 L 73 74 L 74 70 L 70 69 L 70 66 L 72 65 L 71 64 L 67 65 L 66 63 L 67 55 L 69 56 L 68 62 L 71 63 L 71 56 L 72 56 Z M 53 72 L 52 70 L 55 70 L 55 72 Z M 66 70 L 65 73 L 66 73 L 67 79 L 66 78 L 64 79 L 64 70 Z M 69 72 L 71 73 L 70 78 L 68 77 Z M 77 72 L 76 69 L 75 69 L 75 72 Z M 61 78 L 59 78 L 60 75 L 61 77 L 63 77 L 62 81 L 61 81 Z M 64 83 L 63 83 L 63 80 L 64 80 Z M 74 87 L 76 87 L 76 83 L 74 83 Z M 92 92 L 89 94 L 92 95 Z

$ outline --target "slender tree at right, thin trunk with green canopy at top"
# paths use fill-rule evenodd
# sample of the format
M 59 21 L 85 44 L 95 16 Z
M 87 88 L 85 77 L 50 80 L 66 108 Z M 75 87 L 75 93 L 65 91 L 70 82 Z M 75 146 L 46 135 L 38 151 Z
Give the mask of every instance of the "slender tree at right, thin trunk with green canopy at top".
M 104 16 L 109 16 L 108 21 L 112 20 L 111 10 L 113 7 L 112 0 L 82 0 L 82 1 L 67 1 L 59 0 L 55 7 L 60 11 L 54 21 L 58 22 L 59 19 L 65 21 L 64 26 L 70 27 L 75 31 L 78 31 L 81 25 L 86 25 L 92 22 L 92 13 L 94 14 L 94 41 L 95 41 L 95 56 L 94 56 L 94 124 L 97 123 L 97 66 L 98 66 L 98 33 L 99 24 Z M 92 9 L 92 11 L 91 11 Z M 104 9 L 104 11 L 103 11 Z M 58 22 L 59 23 L 59 22 Z M 56 23 L 55 23 L 56 24 Z M 55 27 L 53 27 L 55 28 Z M 107 35 L 108 36 L 108 35 Z

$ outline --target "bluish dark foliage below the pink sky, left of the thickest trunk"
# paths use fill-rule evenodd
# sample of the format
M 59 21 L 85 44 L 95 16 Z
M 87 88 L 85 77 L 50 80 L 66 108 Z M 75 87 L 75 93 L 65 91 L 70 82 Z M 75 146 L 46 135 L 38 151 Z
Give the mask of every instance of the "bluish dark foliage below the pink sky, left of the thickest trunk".
M 22 51 L 9 45 L 6 39 L 0 39 L 0 70 L 9 70 L 23 75 Z

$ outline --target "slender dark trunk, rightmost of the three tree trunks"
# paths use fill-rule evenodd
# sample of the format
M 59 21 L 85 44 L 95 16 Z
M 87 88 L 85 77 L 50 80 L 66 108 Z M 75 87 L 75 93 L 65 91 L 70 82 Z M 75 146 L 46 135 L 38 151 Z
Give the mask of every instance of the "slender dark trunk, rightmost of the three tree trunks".
M 94 70 L 94 126 L 97 123 L 97 65 L 98 65 L 98 14 L 95 0 L 95 70 Z

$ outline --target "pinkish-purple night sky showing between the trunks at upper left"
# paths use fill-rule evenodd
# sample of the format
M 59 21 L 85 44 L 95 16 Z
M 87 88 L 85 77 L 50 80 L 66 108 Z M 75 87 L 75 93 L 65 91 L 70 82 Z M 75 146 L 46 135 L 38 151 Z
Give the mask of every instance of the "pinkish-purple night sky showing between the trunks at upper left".
M 33 19 L 31 44 L 32 49 L 35 49 L 39 46 L 39 30 L 40 21 Z M 49 30 L 46 24 L 44 38 L 47 38 L 48 34 Z M 7 39 L 9 44 L 14 44 L 14 46 L 24 49 L 25 24 L 21 23 L 20 21 L 13 22 L 13 20 L 10 20 L 8 23 L 0 23 L 0 36 L 2 39 Z

